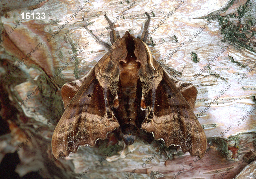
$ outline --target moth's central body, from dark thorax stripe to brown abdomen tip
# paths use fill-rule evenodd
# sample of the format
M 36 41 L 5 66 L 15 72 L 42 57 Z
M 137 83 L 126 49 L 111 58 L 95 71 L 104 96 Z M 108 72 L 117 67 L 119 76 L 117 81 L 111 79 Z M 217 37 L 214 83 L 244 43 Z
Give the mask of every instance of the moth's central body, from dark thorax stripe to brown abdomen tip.
M 128 32 L 122 42 L 119 40 L 113 44 L 126 44 L 127 56 L 118 60 L 119 83 L 117 86 L 117 96 L 119 105 L 112 108 L 116 119 L 120 124 L 119 137 L 127 145 L 133 144 L 138 130 L 138 113 L 141 101 L 141 84 L 139 78 L 140 62 L 135 56 L 134 37 Z M 117 55 L 118 56 L 118 55 Z

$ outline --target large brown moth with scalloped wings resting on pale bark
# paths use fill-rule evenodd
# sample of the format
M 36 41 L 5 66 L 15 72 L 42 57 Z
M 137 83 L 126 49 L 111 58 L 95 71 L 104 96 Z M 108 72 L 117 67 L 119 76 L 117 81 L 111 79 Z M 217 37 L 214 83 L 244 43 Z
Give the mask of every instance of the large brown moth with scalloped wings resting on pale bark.
M 90 74 L 68 82 L 61 89 L 69 103 L 52 136 L 55 157 L 77 152 L 79 146 L 94 146 L 116 129 L 121 140 L 131 145 L 137 131 L 153 133 L 165 145 L 179 145 L 182 152 L 203 157 L 206 136 L 193 113 L 197 96 L 194 85 L 168 75 L 145 43 L 150 17 L 141 39 L 127 31 L 116 39 L 110 28 L 112 46 Z M 143 121 L 139 113 L 146 110 Z M 98 125 L 94 125 L 98 123 Z

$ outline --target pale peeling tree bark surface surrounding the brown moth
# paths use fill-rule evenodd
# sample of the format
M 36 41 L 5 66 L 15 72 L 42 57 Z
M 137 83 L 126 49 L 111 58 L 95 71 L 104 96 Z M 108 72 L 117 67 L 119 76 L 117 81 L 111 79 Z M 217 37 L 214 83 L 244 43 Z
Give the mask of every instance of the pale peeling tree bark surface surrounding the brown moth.
M 130 178 L 139 179 L 256 178 L 255 0 L 15 3 L 0 5 L 0 160 L 17 151 L 20 162 L 14 172 L 20 177 L 36 172 L 62 179 L 114 179 L 131 173 Z M 44 12 L 46 18 L 22 19 L 20 14 L 31 14 L 31 9 Z M 151 18 L 146 43 L 153 58 L 181 72 L 173 75 L 198 90 L 194 113 L 207 137 L 204 158 L 183 154 L 179 148 L 163 149 L 156 141 L 148 144 L 141 138 L 131 146 L 116 143 L 119 151 L 106 157 L 110 134 L 96 147 L 80 147 L 55 160 L 52 133 L 64 111 L 60 89 L 84 76 L 107 53 L 98 41 L 111 45 L 104 15 L 115 22 L 118 37 L 129 31 L 140 38 L 145 12 Z

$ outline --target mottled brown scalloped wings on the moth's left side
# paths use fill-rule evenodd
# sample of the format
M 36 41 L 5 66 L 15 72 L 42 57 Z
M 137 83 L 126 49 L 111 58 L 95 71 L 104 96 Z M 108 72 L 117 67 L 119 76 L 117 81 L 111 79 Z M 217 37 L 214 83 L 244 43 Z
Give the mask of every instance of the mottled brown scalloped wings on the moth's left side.
M 65 157 L 70 152 L 77 152 L 79 146 L 94 146 L 97 139 L 105 139 L 109 132 L 119 127 L 111 110 L 117 94 L 118 81 L 115 79 L 118 80 L 119 74 L 117 66 L 110 66 L 110 62 L 110 57 L 106 54 L 86 78 L 63 86 L 63 101 L 69 105 L 52 136 L 52 151 L 55 157 Z M 103 66 L 109 66 L 113 73 L 104 76 L 101 69 Z M 109 78 L 112 79 L 111 84 Z M 78 84 L 79 82 L 82 84 Z

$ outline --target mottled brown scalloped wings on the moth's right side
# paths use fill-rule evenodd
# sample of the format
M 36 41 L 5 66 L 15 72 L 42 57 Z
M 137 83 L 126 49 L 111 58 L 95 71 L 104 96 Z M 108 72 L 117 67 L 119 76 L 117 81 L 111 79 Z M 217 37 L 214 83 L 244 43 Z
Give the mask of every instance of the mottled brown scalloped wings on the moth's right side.
M 203 157 L 206 136 L 193 113 L 196 88 L 170 78 L 155 59 L 151 61 L 152 65 L 148 62 L 141 66 L 139 74 L 143 99 L 148 107 L 141 128 L 152 132 L 156 140 L 163 139 L 167 147 L 179 145 L 183 152 Z

